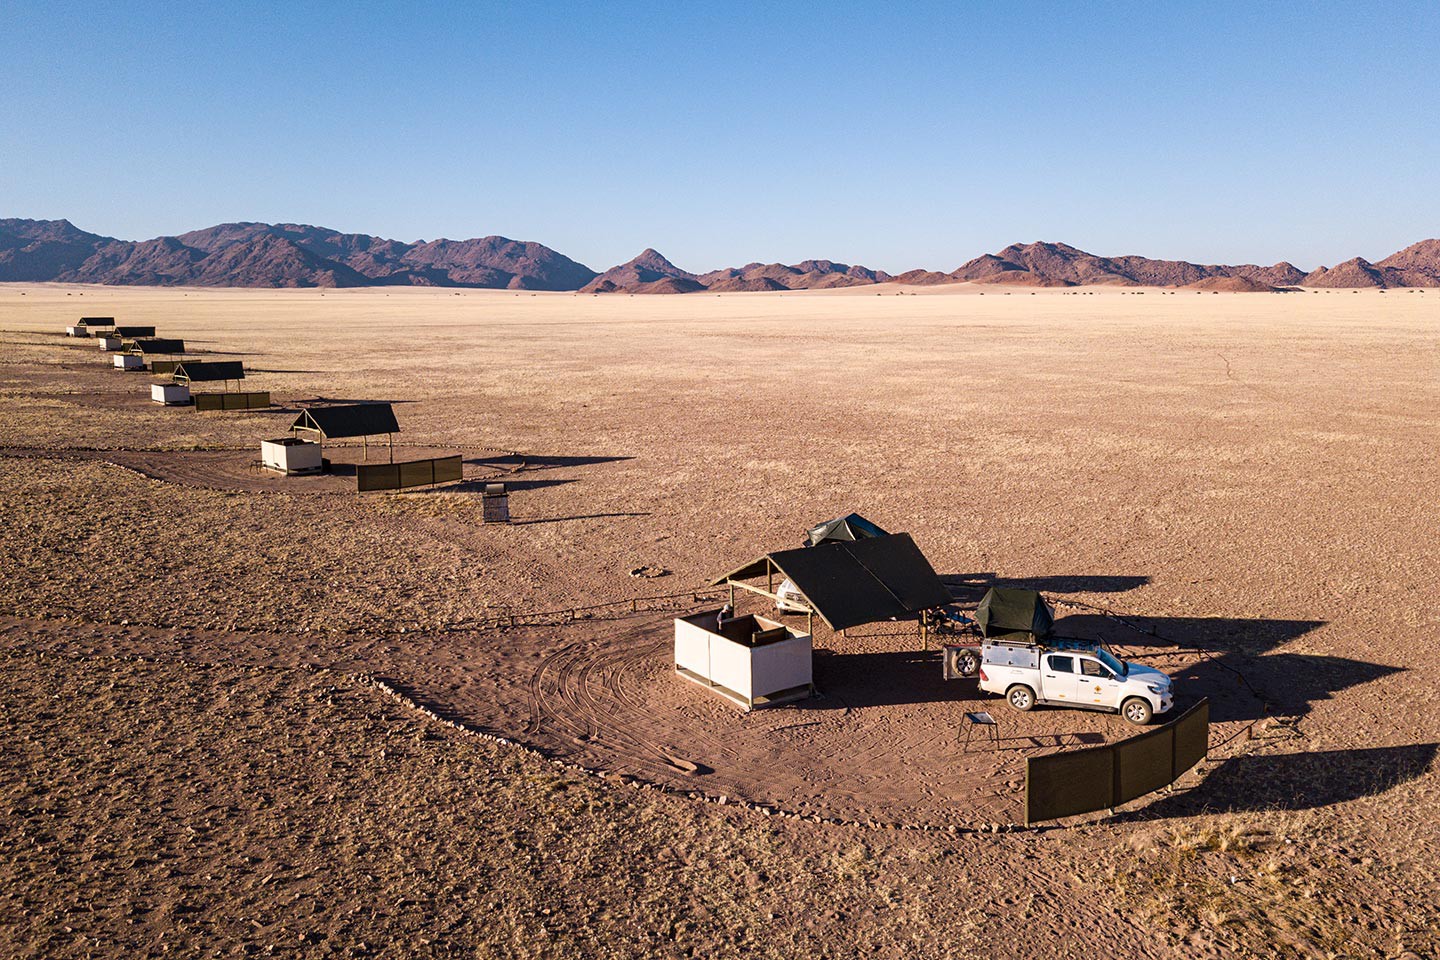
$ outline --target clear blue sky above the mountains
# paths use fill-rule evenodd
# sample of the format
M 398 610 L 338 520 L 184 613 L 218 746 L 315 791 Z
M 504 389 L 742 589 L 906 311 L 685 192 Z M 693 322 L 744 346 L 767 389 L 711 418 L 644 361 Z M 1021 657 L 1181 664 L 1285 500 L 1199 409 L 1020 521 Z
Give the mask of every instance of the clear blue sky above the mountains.
M 1440 236 L 1436 3 L 17 3 L 0 216 L 501 233 L 596 269 Z

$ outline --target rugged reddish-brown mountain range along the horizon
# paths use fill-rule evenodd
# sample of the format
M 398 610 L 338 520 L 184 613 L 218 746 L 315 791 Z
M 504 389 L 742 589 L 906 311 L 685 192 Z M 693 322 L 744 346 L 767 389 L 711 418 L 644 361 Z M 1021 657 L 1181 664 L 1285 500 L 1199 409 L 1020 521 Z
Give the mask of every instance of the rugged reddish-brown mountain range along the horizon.
M 596 273 L 541 245 L 487 236 L 403 243 L 301 223 L 222 223 L 153 240 L 86 233 L 69 220 L 0 220 L 0 282 L 197 286 L 472 286 L 582 294 L 785 291 L 868 284 L 1012 286 L 1440 286 L 1440 240 L 1371 263 L 1361 258 L 1306 273 L 1293 263 L 1202 265 L 1096 256 L 1066 243 L 1015 243 L 949 273 L 884 271 L 834 261 L 746 263 L 708 273 L 680 269 L 654 249 Z

